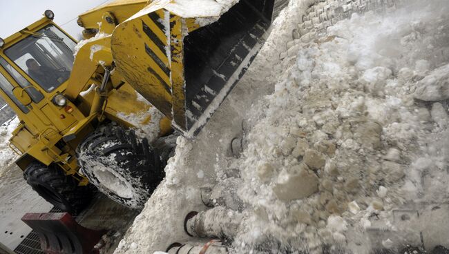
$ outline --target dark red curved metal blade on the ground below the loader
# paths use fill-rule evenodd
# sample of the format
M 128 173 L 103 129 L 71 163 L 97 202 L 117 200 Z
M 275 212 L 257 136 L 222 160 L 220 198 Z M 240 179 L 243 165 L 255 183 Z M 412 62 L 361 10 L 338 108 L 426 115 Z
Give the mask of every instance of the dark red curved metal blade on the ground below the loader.
M 98 253 L 94 246 L 106 233 L 84 228 L 68 213 L 27 213 L 22 221 L 39 235 L 45 253 Z

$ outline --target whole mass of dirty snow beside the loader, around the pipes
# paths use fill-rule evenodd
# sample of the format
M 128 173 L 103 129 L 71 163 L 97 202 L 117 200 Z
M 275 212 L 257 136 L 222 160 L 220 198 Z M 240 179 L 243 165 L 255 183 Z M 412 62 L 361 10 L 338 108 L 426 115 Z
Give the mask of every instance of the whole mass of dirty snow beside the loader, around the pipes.
M 353 14 L 324 37 L 292 41 L 312 2 L 289 3 L 200 135 L 178 138 L 166 179 L 115 253 L 198 242 L 184 216 L 206 209 L 200 187 L 231 169 L 244 204 L 231 253 L 321 253 L 323 244 L 369 253 L 367 230 L 394 230 L 394 208 L 448 202 L 448 2 Z M 237 135 L 239 158 L 229 154 Z

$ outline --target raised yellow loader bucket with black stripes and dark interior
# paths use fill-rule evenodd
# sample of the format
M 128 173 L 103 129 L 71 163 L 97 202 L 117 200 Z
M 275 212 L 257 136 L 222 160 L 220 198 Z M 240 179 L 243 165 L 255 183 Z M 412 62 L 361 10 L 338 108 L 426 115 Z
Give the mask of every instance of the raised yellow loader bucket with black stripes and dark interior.
M 192 137 L 244 75 L 288 0 L 240 0 L 217 16 L 184 12 L 179 6 L 195 1 L 177 1 L 153 1 L 121 23 L 111 49 L 124 79 Z

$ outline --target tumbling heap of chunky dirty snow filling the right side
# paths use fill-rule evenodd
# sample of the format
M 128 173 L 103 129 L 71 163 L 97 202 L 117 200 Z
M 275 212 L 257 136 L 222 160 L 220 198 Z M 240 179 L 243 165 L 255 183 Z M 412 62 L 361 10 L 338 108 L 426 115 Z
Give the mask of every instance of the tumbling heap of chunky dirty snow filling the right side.
M 386 218 L 408 200 L 447 202 L 449 142 L 434 136 L 448 134 L 448 104 L 434 101 L 447 99 L 448 7 L 354 14 L 321 40 L 295 41 L 294 65 L 279 66 L 286 71 L 252 116 L 237 163 L 240 198 L 253 212 L 236 253 L 279 245 L 321 253 L 323 244 L 354 242 L 348 223 L 363 231 L 373 214 Z

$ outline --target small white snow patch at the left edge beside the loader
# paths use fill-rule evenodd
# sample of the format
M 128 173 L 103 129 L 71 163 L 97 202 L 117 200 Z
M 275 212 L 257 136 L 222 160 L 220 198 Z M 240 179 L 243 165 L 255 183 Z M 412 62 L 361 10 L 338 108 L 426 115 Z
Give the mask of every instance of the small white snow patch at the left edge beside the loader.
M 0 175 L 2 175 L 3 170 L 18 157 L 18 155 L 11 150 L 9 145 L 11 133 L 17 128 L 19 121 L 19 118 L 14 117 L 0 126 Z

